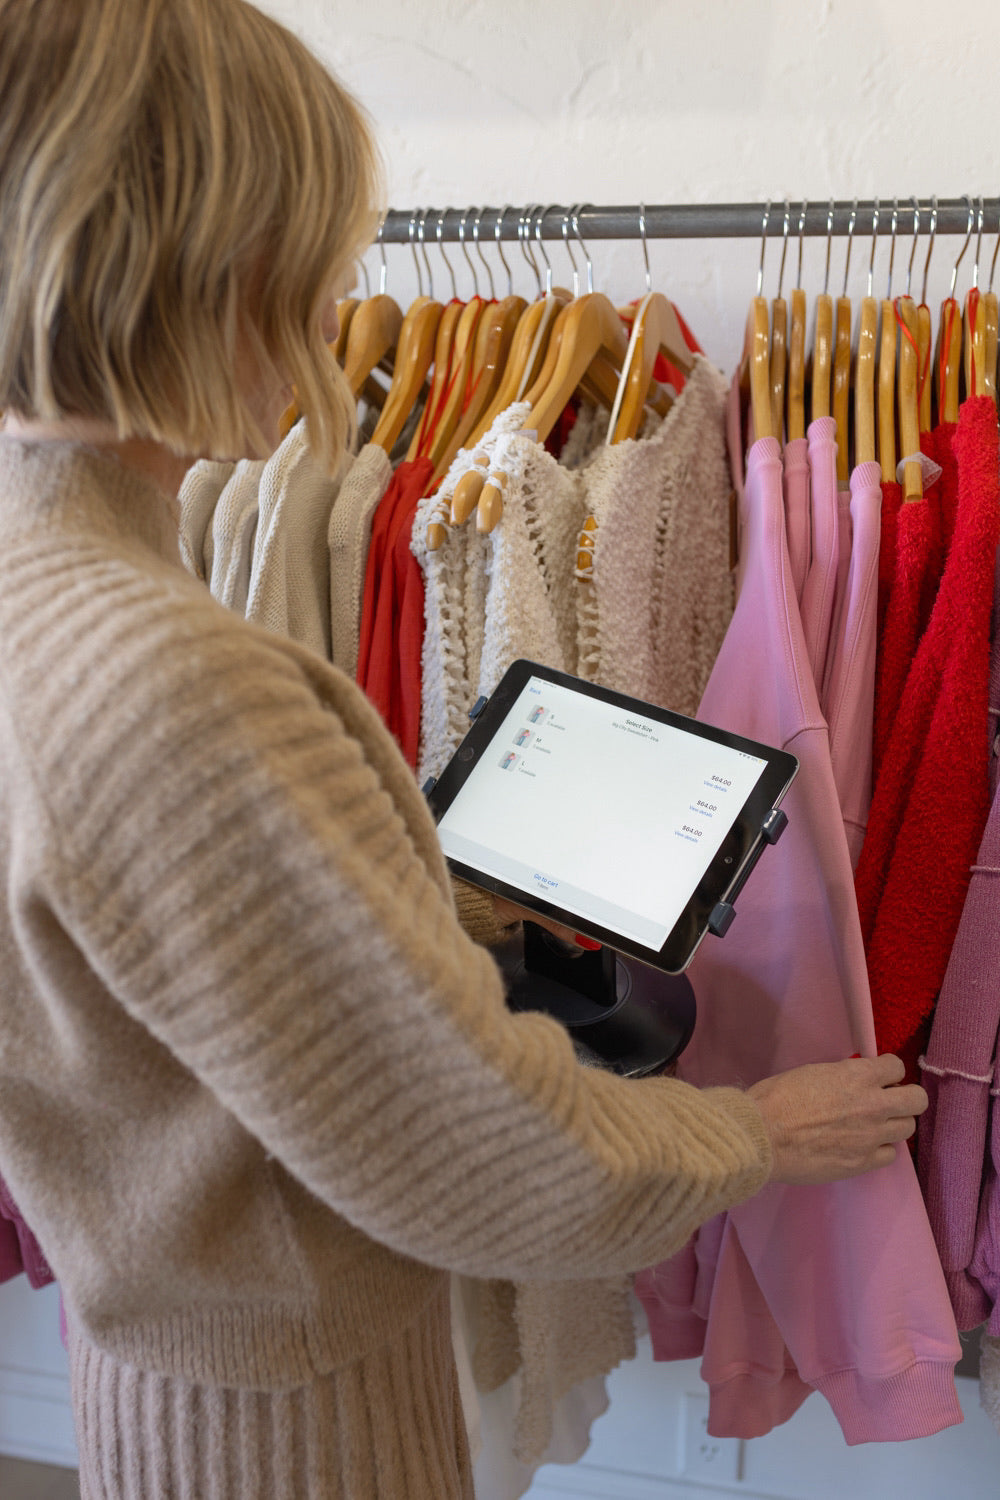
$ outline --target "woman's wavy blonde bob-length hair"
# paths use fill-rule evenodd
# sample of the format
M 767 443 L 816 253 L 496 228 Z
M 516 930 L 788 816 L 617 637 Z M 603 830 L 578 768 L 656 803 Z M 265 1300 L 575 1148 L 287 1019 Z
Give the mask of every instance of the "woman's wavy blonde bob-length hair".
M 381 186 L 346 90 L 244 0 L 0 0 L 0 406 L 232 458 L 294 384 L 333 465 L 321 314 Z

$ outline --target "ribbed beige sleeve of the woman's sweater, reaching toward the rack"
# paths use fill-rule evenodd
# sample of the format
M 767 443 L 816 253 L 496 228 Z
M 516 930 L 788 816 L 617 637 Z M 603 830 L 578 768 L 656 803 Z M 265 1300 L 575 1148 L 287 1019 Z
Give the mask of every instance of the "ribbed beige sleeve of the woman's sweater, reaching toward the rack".
M 45 898 L 316 1198 L 427 1264 L 544 1280 L 645 1266 L 762 1185 L 745 1095 L 585 1070 L 555 1022 L 507 1011 L 418 788 L 342 674 L 136 543 L 76 544 L 60 574 L 58 540 L 7 554 Z

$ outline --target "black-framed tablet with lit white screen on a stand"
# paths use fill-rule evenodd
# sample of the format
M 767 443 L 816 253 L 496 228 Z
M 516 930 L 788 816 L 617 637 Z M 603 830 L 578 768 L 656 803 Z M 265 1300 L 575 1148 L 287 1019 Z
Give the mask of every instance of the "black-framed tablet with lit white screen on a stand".
M 724 932 L 795 756 L 537 662 L 474 712 L 424 788 L 457 876 L 669 974 Z

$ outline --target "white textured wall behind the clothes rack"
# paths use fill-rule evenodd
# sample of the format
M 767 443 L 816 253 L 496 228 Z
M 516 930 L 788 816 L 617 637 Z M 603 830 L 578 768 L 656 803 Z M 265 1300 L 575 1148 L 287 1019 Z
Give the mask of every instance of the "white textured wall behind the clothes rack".
M 940 0 L 264 0 L 264 9 L 367 105 L 393 207 L 1000 194 L 996 0 L 954 9 Z M 993 248 L 990 238 L 987 266 Z M 592 249 L 600 290 L 643 290 L 639 244 Z M 955 240 L 939 240 L 934 298 L 955 254 Z M 556 268 L 567 264 L 559 255 Z M 390 290 L 403 300 L 415 290 L 408 252 L 388 256 Z M 724 366 L 739 351 L 757 256 L 750 242 L 651 248 L 657 288 Z M 907 256 L 901 240 L 898 272 Z M 822 280 L 823 258 L 822 242 L 807 242 L 807 286 Z M 856 294 L 867 260 L 859 238 Z M 772 242 L 769 290 L 777 264 Z M 888 243 L 880 288 L 885 264 Z M 960 286 L 970 266 L 972 255 Z M 843 244 L 832 267 L 840 290 Z

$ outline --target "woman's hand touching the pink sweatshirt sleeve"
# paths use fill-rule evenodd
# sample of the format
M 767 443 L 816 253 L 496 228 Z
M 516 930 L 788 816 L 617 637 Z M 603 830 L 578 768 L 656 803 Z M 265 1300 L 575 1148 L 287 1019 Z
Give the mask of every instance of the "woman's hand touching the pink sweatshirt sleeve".
M 919 1083 L 903 1083 L 898 1058 L 819 1062 L 754 1083 L 765 1118 L 774 1182 L 816 1184 L 888 1167 L 928 1106 Z

